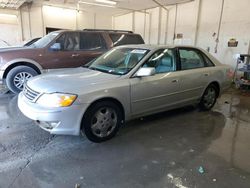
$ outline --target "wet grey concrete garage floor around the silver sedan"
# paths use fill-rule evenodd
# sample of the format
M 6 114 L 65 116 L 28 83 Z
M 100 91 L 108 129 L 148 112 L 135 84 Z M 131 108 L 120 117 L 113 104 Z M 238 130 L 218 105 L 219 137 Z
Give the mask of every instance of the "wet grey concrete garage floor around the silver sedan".
M 51 136 L 0 96 L 0 188 L 250 187 L 250 95 L 129 122 L 108 142 Z M 204 173 L 198 171 L 202 167 Z

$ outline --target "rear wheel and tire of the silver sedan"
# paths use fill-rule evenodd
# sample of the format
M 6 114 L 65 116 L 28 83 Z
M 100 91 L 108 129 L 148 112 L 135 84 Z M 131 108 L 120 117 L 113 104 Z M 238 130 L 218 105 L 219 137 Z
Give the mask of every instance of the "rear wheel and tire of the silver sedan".
M 218 98 L 218 88 L 214 84 L 210 84 L 202 95 L 199 107 L 203 111 L 211 110 Z

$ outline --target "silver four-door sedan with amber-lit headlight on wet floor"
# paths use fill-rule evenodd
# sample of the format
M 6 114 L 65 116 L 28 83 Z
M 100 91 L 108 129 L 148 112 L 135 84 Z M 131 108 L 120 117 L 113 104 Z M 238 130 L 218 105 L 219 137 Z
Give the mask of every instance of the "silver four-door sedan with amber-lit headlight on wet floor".
M 134 118 L 187 105 L 210 110 L 230 70 L 195 47 L 122 46 L 83 67 L 32 78 L 18 106 L 51 134 L 102 142 Z

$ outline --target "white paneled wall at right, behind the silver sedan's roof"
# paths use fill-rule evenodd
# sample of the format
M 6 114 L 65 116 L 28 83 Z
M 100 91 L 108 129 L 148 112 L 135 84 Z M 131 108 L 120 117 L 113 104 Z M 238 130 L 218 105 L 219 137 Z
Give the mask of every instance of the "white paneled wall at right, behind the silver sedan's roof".
M 143 24 L 145 19 L 142 13 L 135 12 L 134 19 L 131 19 L 131 13 L 114 17 L 113 28 L 130 30 L 135 25 L 135 32 L 142 34 L 145 31 L 142 36 L 146 43 L 196 45 L 203 49 L 210 49 L 210 53 L 221 62 L 235 66 L 233 58 L 235 54 L 250 53 L 248 52 L 250 46 L 249 7 L 249 0 L 225 1 L 217 52 L 215 47 L 222 0 L 195 0 L 179 4 L 177 12 L 175 5 L 166 7 L 169 9 L 168 12 L 163 8 L 149 9 L 146 10 L 149 17 L 146 24 Z M 129 22 L 126 21 L 127 19 Z M 126 24 L 122 25 L 123 22 Z M 174 32 L 182 33 L 183 39 L 173 40 Z M 213 36 L 213 33 L 216 35 Z M 236 38 L 239 41 L 238 47 L 227 46 L 230 38 Z

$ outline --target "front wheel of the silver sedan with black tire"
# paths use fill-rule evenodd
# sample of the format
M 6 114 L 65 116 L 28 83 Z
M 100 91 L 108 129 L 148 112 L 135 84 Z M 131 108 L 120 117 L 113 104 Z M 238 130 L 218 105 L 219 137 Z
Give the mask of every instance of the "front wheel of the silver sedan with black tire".
M 106 112 L 104 109 L 106 109 Z M 108 110 L 112 113 L 110 115 L 110 118 L 106 117 L 107 119 L 105 119 L 104 117 L 106 116 Z M 101 120 L 100 118 L 97 118 L 98 113 L 103 113 Z M 114 123 L 115 119 L 116 123 Z M 111 124 L 113 124 L 113 127 L 111 126 Z M 93 106 L 91 106 L 87 110 L 83 117 L 81 129 L 90 141 L 100 143 L 113 138 L 118 132 L 121 124 L 122 112 L 119 106 L 110 101 L 102 101 L 93 104 Z M 107 129 L 107 135 L 101 136 L 102 131 L 104 132 L 104 129 Z

